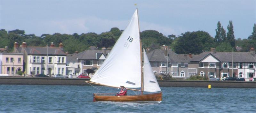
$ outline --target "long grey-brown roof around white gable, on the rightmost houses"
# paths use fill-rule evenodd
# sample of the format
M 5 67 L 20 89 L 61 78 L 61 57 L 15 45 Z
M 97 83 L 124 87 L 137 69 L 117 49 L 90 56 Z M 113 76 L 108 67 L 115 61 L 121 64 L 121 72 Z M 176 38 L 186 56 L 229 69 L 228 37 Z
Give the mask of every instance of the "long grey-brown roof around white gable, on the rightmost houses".
M 220 62 L 232 62 L 232 52 L 203 52 L 198 56 L 195 56 L 190 61 L 191 62 L 199 62 L 204 59 L 206 56 L 211 54 L 212 56 L 216 57 Z M 233 54 L 233 61 L 234 62 L 256 62 L 256 55 L 252 55 L 250 52 L 234 52 Z

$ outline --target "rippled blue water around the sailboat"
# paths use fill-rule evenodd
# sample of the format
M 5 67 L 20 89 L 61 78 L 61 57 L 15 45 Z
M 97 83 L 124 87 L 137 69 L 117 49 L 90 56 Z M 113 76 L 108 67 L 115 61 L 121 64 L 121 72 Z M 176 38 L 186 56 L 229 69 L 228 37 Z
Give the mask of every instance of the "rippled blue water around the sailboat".
M 119 89 L 101 88 L 99 93 Z M 256 112 L 256 89 L 161 87 L 163 102 L 92 102 L 92 86 L 0 85 L 1 113 Z M 128 94 L 133 94 L 129 91 Z

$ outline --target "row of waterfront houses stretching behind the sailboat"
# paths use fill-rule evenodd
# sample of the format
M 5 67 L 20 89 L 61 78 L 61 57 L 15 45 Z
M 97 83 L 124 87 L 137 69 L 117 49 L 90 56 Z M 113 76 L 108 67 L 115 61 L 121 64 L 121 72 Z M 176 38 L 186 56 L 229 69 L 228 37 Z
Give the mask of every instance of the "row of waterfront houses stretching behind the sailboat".
M 26 76 L 31 72 L 46 75 L 79 75 L 87 69 L 97 71 L 110 52 L 110 48 L 90 47 L 81 53 L 63 52 L 62 43 L 55 47 L 27 47 L 26 42 L 20 46 L 14 43 L 12 53 L 0 53 L 0 74 L 14 75 L 23 71 Z M 203 52 L 199 55 L 176 54 L 168 46 L 162 49 L 146 49 L 148 59 L 155 74 L 167 73 L 174 78 L 186 79 L 191 75 L 208 75 L 215 78 L 228 76 L 243 77 L 249 80 L 256 75 L 255 49 L 250 52 Z

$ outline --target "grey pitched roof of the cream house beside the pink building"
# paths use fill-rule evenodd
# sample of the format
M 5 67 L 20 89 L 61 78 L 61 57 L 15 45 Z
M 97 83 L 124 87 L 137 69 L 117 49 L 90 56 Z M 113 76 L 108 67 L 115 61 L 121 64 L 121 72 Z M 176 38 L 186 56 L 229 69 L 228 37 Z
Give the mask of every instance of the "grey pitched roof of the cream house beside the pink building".
M 26 47 L 26 48 L 17 48 L 16 49 L 19 53 L 22 53 L 23 50 L 25 50 L 28 55 L 66 55 L 61 48 L 57 47 Z M 16 51 L 15 51 L 16 52 Z

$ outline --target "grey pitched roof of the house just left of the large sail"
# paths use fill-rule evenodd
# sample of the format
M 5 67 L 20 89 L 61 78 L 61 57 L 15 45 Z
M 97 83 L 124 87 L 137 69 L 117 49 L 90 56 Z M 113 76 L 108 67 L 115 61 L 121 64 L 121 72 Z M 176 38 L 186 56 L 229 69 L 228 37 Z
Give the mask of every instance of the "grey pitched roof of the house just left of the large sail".
M 91 60 L 96 60 L 99 59 L 101 54 L 104 54 L 107 56 L 107 54 L 110 52 L 110 49 L 107 50 L 84 50 L 81 53 L 77 54 L 78 59 L 91 59 Z

